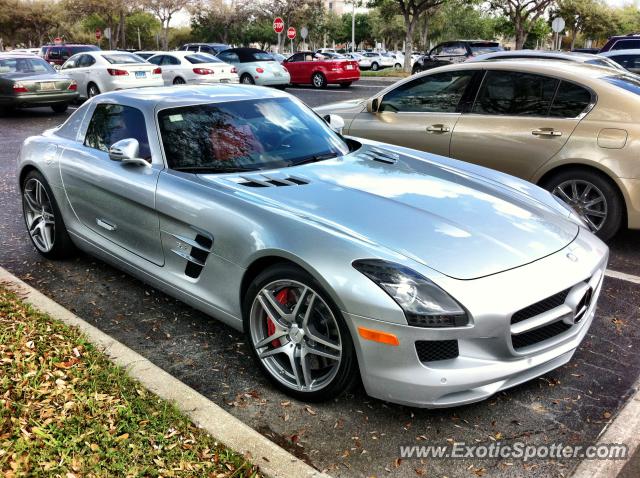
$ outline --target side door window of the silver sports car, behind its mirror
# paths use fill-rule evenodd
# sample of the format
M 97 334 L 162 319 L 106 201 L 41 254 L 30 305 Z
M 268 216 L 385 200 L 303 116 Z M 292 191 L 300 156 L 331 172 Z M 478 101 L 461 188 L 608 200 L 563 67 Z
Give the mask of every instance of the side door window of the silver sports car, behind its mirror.
M 121 139 L 134 138 L 140 143 L 140 157 L 151 159 L 144 115 L 130 106 L 100 104 L 89 123 L 84 145 L 108 152 Z

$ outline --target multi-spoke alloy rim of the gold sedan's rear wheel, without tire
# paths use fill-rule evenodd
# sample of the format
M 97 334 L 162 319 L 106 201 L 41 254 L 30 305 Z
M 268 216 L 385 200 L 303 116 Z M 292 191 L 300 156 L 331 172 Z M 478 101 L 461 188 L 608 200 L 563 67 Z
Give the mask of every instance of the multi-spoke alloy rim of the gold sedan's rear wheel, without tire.
M 599 231 L 607 220 L 607 198 L 589 181 L 571 179 L 558 184 L 553 194 L 571 206 L 589 226 Z

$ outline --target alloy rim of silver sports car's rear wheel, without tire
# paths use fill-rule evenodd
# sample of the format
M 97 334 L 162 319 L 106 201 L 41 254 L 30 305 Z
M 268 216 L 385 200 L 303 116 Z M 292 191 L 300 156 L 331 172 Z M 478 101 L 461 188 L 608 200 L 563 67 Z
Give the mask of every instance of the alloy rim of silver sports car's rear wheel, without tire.
M 55 216 L 47 190 L 40 181 L 31 178 L 24 186 L 22 200 L 33 243 L 41 252 L 50 252 L 55 238 Z

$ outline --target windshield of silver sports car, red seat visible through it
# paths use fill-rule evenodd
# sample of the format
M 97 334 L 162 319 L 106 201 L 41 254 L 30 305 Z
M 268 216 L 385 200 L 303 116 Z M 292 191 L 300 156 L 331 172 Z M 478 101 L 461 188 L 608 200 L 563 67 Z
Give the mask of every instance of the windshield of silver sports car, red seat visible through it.
M 270 169 L 349 151 L 322 119 L 289 98 L 169 108 L 158 123 L 169 167 L 183 171 Z

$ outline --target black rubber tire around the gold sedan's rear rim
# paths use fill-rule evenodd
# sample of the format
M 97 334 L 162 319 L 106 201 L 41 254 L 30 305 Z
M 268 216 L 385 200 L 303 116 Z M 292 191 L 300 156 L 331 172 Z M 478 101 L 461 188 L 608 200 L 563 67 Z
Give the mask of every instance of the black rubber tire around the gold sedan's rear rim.
M 601 224 L 597 224 L 599 225 L 597 230 L 594 231 L 592 228 L 592 231 L 603 241 L 608 241 L 615 236 L 622 226 L 623 217 L 625 217 L 624 201 L 615 183 L 603 173 L 585 168 L 571 168 L 553 174 L 540 185 L 566 201 L 566 198 L 560 196 L 556 188 L 569 181 L 578 181 L 584 185 L 590 184 L 596 188 L 596 191 L 602 193 L 606 218 Z M 603 208 L 602 204 L 599 204 L 598 207 Z

